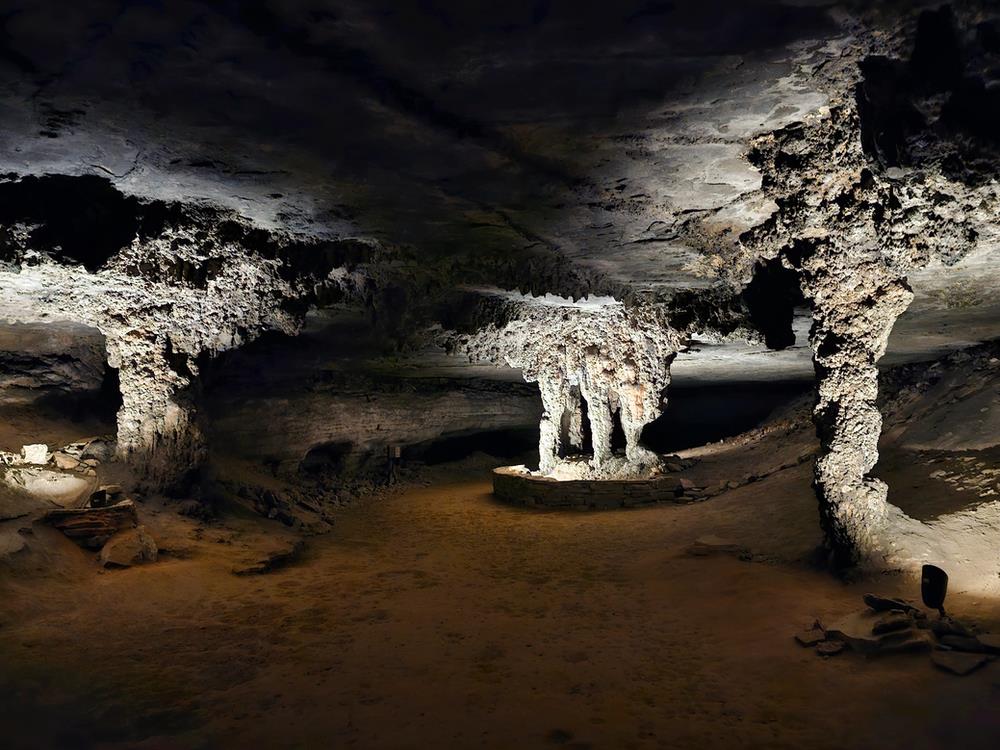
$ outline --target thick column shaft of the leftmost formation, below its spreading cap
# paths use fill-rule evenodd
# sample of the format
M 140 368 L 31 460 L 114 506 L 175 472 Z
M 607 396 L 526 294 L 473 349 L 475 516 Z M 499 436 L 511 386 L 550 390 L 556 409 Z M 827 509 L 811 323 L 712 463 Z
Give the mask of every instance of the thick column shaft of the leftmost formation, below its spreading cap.
M 193 375 L 172 365 L 169 351 L 169 342 L 158 337 L 108 335 L 108 362 L 118 369 L 122 396 L 118 457 L 159 487 L 197 468 L 206 452 L 195 423 Z

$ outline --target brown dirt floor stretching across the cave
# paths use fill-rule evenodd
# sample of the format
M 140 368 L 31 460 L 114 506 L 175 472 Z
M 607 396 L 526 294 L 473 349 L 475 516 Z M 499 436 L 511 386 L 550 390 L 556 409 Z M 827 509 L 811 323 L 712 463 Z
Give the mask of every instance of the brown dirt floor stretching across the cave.
M 699 469 L 748 460 L 714 449 Z M 149 505 L 168 553 L 105 572 L 35 524 L 30 556 L 0 571 L 0 745 L 996 747 L 1000 664 L 956 677 L 926 654 L 793 641 L 866 591 L 917 597 L 902 575 L 815 566 L 808 462 L 699 504 L 603 512 L 501 504 L 488 466 L 361 501 L 259 576 L 231 571 L 287 533 L 263 519 Z M 751 559 L 690 555 L 708 534 Z M 1000 629 L 1000 602 L 949 605 Z

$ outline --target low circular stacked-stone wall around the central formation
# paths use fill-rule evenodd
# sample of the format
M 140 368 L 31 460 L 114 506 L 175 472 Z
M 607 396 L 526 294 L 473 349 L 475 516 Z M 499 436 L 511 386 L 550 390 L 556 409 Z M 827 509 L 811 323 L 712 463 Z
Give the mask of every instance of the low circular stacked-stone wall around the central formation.
M 503 466 L 493 470 L 493 494 L 501 500 L 553 508 L 692 503 L 718 494 L 715 489 L 695 487 L 689 480 L 669 474 L 650 479 L 557 480 L 533 475 L 522 467 Z

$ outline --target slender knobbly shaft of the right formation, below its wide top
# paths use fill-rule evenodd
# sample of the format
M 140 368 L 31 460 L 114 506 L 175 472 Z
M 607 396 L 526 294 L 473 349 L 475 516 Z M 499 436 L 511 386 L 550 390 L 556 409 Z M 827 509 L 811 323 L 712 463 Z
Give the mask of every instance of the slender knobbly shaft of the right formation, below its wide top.
M 812 304 L 816 370 L 813 419 L 820 441 L 813 486 L 834 563 L 849 567 L 878 554 L 888 521 L 888 487 L 868 474 L 878 461 L 882 415 L 878 360 L 913 294 L 878 262 L 811 263 L 802 289 Z

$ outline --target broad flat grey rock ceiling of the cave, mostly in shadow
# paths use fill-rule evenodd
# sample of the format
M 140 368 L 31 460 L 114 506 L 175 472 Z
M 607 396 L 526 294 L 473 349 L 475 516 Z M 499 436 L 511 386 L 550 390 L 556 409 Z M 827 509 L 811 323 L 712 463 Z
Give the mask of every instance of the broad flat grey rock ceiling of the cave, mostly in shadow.
M 720 266 L 733 268 L 730 291 L 751 282 L 755 258 L 733 264 L 733 248 L 777 208 L 747 158 L 754 139 L 821 121 L 832 100 L 853 95 L 859 76 L 875 102 L 862 113 L 873 169 L 905 173 L 937 158 L 936 143 L 957 141 L 964 150 L 949 152 L 947 168 L 935 162 L 938 171 L 970 190 L 995 183 L 990 125 L 1000 108 L 990 92 L 1000 77 L 1000 26 L 988 5 L 957 3 L 954 38 L 915 51 L 920 11 L 937 7 L 13 0 L 0 12 L 0 199 L 8 206 L 0 211 L 29 228 L 55 221 L 55 209 L 39 206 L 71 203 L 77 188 L 47 192 L 50 182 L 39 187 L 30 176 L 85 177 L 82 202 L 93 203 L 85 213 L 112 206 L 112 218 L 128 214 L 129 237 L 155 234 L 151 222 L 173 222 L 183 234 L 184 222 L 218 227 L 232 214 L 244 222 L 240 242 L 255 229 L 281 238 L 267 252 L 247 240 L 266 257 L 291 247 L 301 260 L 310 243 L 328 254 L 340 243 L 361 252 L 371 275 L 412 285 L 397 304 L 419 299 L 426 309 L 409 321 L 397 313 L 400 327 L 446 323 L 449 305 L 466 304 L 438 303 L 455 290 L 710 304 Z M 928 55 L 945 63 L 928 64 Z M 958 68 L 927 72 L 948 61 Z M 963 114 L 970 107 L 978 115 Z M 93 195 L 102 191 L 115 195 L 101 203 Z M 974 247 L 932 253 L 909 274 L 916 297 L 896 326 L 890 361 L 1000 336 L 1000 249 L 988 223 L 974 232 Z M 109 263 L 148 277 L 135 257 L 73 256 L 64 247 L 72 233 L 64 228 L 59 251 L 82 264 L 80 273 Z M 110 253 L 129 237 L 100 239 Z M 23 265 L 23 253 L 15 260 Z M 217 262 L 232 259 L 220 253 Z M 153 281 L 191 281 L 171 273 L 158 262 Z M 302 273 L 269 280 L 268 294 L 290 285 L 299 300 Z M 0 300 L 5 317 L 52 293 L 44 279 L 5 274 L 14 289 Z M 58 284 L 69 296 L 110 288 Z M 83 318 L 100 327 L 99 316 Z M 792 321 L 794 343 L 780 351 L 697 328 L 674 363 L 676 379 L 811 373 L 804 309 Z M 213 339 L 208 348 L 225 346 Z M 454 369 L 440 354 L 424 363 Z

